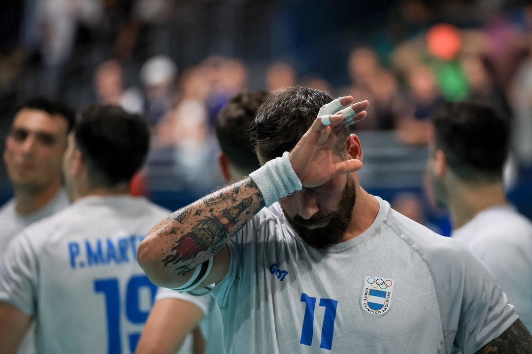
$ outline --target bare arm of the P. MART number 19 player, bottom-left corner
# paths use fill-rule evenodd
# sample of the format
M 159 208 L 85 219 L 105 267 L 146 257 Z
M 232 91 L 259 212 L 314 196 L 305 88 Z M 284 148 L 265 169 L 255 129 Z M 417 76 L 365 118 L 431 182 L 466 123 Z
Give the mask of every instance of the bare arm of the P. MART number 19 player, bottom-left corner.
M 31 317 L 18 308 L 0 303 L 0 348 L 2 348 L 2 353 L 12 354 L 16 352 L 30 322 Z

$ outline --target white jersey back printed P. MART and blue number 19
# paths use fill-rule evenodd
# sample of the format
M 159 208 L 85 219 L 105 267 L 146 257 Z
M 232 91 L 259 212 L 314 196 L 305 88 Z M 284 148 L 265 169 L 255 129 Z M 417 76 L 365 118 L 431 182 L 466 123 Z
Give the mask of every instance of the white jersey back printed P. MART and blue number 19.
M 142 197 L 89 196 L 9 244 L 0 300 L 37 322 L 39 353 L 132 353 L 157 288 L 137 246 L 169 214 Z

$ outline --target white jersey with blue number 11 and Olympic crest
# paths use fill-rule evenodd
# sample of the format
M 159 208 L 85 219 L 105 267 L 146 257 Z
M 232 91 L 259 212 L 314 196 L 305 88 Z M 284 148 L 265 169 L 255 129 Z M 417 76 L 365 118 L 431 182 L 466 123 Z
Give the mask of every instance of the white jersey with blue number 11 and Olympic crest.
M 361 235 L 326 250 L 289 228 L 279 205 L 229 241 L 212 291 L 227 353 L 476 352 L 517 320 L 486 266 L 377 198 Z

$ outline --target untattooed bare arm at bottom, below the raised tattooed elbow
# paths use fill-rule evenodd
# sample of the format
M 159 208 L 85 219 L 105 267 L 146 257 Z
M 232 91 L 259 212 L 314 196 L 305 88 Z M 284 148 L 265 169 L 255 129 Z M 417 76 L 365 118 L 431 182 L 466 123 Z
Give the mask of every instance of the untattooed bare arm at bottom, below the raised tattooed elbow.
M 137 345 L 137 354 L 173 354 L 203 318 L 202 310 L 186 300 L 157 300 Z

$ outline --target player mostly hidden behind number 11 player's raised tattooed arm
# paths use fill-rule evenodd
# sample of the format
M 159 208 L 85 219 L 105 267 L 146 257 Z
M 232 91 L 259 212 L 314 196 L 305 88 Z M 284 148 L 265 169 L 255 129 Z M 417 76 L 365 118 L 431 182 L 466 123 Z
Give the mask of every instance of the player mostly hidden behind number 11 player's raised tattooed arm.
M 214 123 L 221 151 L 218 156 L 220 170 L 226 182 L 239 180 L 260 167 L 253 152 L 250 125 L 257 109 L 270 96 L 267 92 L 238 93 L 231 97 Z M 137 347 L 138 353 L 179 353 L 187 348 L 187 334 L 200 325 L 201 336 L 206 340 L 205 354 L 218 354 L 223 348 L 220 309 L 210 295 L 193 296 L 161 288 L 157 301 L 149 314 Z M 194 349 L 201 347 L 194 333 Z M 188 344 L 190 347 L 190 344 Z

